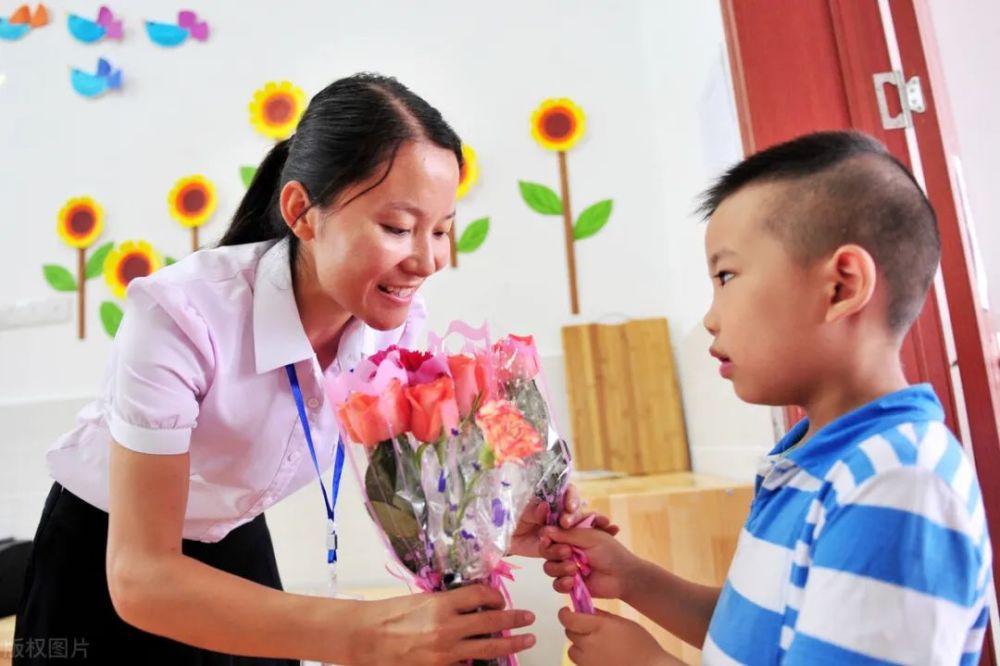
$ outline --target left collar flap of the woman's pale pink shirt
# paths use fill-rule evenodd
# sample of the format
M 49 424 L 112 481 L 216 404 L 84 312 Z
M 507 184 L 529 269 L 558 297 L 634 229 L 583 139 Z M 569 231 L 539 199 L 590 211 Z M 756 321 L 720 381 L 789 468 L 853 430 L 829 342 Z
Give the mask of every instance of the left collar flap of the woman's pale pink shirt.
M 315 356 L 295 304 L 288 239 L 272 245 L 257 261 L 253 345 L 258 374 Z

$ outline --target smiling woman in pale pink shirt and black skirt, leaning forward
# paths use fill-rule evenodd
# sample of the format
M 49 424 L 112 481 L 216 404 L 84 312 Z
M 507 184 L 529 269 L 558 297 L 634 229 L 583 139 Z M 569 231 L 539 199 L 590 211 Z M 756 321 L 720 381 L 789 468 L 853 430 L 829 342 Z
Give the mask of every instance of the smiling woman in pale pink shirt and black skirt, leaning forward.
M 315 481 L 286 367 L 329 468 L 323 378 L 416 341 L 461 167 L 423 99 L 391 78 L 341 79 L 267 155 L 219 247 L 129 285 L 103 395 L 49 452 L 15 663 L 51 657 L 29 654 L 39 639 L 89 663 L 172 665 L 439 664 L 534 643 L 474 638 L 533 621 L 484 586 L 375 602 L 282 592 L 264 522 Z M 514 550 L 537 555 L 526 513 Z

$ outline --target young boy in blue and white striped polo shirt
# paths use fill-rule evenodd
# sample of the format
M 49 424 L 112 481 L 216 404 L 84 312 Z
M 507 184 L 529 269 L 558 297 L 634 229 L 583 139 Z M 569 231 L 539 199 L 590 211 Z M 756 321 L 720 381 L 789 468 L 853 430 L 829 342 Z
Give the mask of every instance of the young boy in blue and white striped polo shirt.
M 705 664 L 976 664 L 991 548 L 979 486 L 900 344 L 940 253 L 909 172 L 858 133 L 751 156 L 704 198 L 705 328 L 737 395 L 807 418 L 766 459 L 722 589 L 684 581 L 598 530 L 550 529 L 566 592 L 582 550 L 620 598 Z M 563 609 L 577 664 L 676 664 L 637 624 Z

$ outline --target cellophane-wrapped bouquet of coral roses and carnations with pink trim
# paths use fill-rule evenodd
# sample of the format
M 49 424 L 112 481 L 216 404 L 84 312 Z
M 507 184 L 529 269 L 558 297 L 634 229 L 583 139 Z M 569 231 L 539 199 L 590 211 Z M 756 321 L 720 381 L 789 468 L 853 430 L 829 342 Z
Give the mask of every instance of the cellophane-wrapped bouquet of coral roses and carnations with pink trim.
M 453 334 L 464 344 L 448 354 Z M 522 512 L 533 499 L 549 522 L 562 511 L 568 448 L 531 338 L 491 345 L 485 327 L 455 322 L 430 339 L 428 351 L 390 347 L 341 373 L 327 384 L 330 402 L 369 514 L 413 583 L 484 583 L 506 596 L 503 558 Z

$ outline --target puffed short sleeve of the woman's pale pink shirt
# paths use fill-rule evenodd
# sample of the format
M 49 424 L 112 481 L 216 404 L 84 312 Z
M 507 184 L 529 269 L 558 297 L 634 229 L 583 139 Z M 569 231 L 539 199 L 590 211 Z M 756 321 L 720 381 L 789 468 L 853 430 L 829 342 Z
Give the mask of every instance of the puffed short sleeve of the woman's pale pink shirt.
M 205 320 L 179 288 L 135 280 L 114 346 L 111 436 L 139 453 L 186 452 L 211 376 Z

